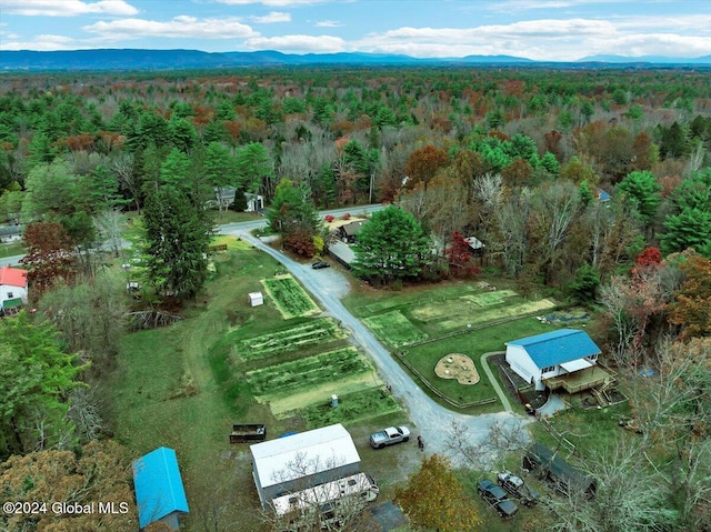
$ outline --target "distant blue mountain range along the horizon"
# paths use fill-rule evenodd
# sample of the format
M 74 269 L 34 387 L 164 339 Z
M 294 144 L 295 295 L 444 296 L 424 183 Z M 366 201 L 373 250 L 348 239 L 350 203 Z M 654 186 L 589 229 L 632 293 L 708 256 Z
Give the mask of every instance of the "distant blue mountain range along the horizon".
M 186 70 L 240 67 L 289 66 L 525 66 L 558 68 L 619 68 L 640 66 L 711 66 L 711 56 L 701 58 L 663 58 L 645 56 L 591 56 L 579 61 L 533 61 L 512 56 L 467 56 L 463 58 L 420 59 L 382 53 L 282 53 L 272 50 L 256 52 L 210 53 L 199 50 L 100 49 L 72 51 L 0 51 L 2 71 L 76 71 L 76 70 Z

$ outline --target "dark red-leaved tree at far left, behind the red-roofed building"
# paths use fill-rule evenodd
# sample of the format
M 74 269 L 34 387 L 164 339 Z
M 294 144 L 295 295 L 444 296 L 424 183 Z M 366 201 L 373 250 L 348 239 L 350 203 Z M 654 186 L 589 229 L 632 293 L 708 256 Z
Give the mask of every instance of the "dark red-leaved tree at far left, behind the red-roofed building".
M 28 269 L 27 281 L 33 297 L 57 281 L 70 281 L 76 274 L 71 239 L 59 223 L 36 222 L 24 230 L 27 254 L 20 263 Z

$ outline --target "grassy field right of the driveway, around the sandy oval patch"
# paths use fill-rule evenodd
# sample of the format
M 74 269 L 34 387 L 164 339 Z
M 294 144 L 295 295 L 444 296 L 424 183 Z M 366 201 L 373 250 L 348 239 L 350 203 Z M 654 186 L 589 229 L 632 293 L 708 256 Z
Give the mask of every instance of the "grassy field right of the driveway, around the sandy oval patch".
M 505 350 L 504 342 L 509 340 L 555 329 L 532 317 L 515 319 L 531 313 L 544 314 L 555 307 L 553 300 L 542 294 L 523 298 L 507 281 L 497 281 L 495 284 L 497 290 L 475 281 L 408 288 L 400 292 L 360 289 L 343 301 L 384 345 L 404 352 L 405 361 L 439 392 L 455 402 L 470 403 L 498 397 L 481 367 L 482 354 Z M 509 321 L 501 323 L 503 320 Z M 468 325 L 471 325 L 470 332 L 445 337 L 450 332 L 464 331 Z M 439 339 L 409 347 L 428 338 Z M 481 377 L 478 384 L 464 385 L 434 374 L 437 362 L 450 353 L 463 353 L 473 360 Z M 474 408 L 472 413 L 501 408 L 497 401 Z

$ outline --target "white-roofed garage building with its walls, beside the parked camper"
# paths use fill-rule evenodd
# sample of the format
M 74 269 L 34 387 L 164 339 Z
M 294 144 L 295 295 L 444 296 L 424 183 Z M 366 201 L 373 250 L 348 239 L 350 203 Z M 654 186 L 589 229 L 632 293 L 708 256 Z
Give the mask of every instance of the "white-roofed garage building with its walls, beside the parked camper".
M 286 493 L 360 471 L 360 455 L 342 424 L 250 445 L 252 475 L 262 506 Z

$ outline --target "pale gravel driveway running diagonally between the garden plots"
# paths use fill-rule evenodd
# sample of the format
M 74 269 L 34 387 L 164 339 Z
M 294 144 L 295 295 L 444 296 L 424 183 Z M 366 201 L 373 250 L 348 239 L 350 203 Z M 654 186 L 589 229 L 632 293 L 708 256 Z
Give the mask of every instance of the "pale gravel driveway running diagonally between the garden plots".
M 527 421 L 524 418 L 511 412 L 463 415 L 439 405 L 412 382 L 410 377 L 398 365 L 370 330 L 343 307 L 340 298 L 343 295 L 342 287 L 347 285 L 348 281 L 340 272 L 330 269 L 327 279 L 322 275 L 327 271 L 313 270 L 308 264 L 291 260 L 258 238 L 252 237 L 246 230 L 236 231 L 236 234 L 281 262 L 320 301 L 323 309 L 351 332 L 352 341 L 372 357 L 380 374 L 390 384 L 392 393 L 409 410 L 410 419 L 417 425 L 415 435 L 418 433 L 422 434 L 428 452 L 447 454 L 453 462 L 459 462 L 459 456 L 452 455 L 445 446 L 445 438 L 451 432 L 452 421 L 469 428 L 472 442 L 485 438 L 494 420 Z M 334 284 L 334 282 L 340 282 L 340 284 Z M 492 380 L 492 382 L 495 382 L 495 380 Z

